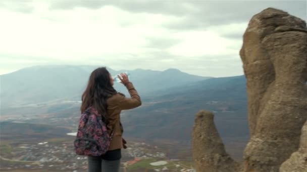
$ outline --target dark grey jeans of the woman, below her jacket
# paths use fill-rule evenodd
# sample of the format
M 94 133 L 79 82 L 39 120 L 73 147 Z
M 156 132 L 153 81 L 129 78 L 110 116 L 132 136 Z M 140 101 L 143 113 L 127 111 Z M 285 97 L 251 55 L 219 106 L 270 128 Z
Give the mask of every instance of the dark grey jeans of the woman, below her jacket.
M 88 172 L 118 172 L 121 160 L 105 160 L 101 157 L 87 156 Z

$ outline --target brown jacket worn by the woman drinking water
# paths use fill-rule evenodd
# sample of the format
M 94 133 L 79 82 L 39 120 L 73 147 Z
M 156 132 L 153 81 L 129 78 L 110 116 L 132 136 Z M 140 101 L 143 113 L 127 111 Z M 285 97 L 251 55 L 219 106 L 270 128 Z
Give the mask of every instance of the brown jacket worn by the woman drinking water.
M 141 99 L 134 89 L 133 84 L 128 82 L 126 85 L 131 98 L 126 98 L 123 94 L 117 93 L 107 100 L 108 110 L 107 115 L 109 118 L 108 132 L 113 130 L 113 139 L 110 143 L 109 150 L 121 149 L 123 147 L 122 134 L 123 129 L 121 126 L 120 113 L 122 110 L 133 109 L 141 106 Z

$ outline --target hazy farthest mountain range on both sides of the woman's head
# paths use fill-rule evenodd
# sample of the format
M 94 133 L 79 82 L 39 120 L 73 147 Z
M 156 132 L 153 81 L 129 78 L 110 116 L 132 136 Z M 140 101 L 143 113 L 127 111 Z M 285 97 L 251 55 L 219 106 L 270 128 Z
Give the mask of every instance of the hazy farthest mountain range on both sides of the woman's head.
M 13 73 L 0 75 L 1 102 L 5 107 L 28 105 L 63 100 L 80 100 L 92 70 L 98 66 L 50 65 L 24 68 Z M 113 70 L 112 75 L 128 71 L 138 92 L 146 95 L 160 89 L 182 85 L 210 77 L 190 75 L 178 69 L 155 70 Z M 127 94 L 120 83 L 115 89 Z

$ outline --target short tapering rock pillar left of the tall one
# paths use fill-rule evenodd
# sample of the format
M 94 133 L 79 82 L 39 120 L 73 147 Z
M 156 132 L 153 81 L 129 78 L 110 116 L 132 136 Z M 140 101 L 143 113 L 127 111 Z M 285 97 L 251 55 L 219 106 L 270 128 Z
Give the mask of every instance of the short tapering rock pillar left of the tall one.
M 193 128 L 193 145 L 197 145 L 193 147 L 196 170 L 199 172 L 237 171 L 238 164 L 226 153 L 213 118 L 213 113 L 209 111 L 200 111 L 196 115 Z

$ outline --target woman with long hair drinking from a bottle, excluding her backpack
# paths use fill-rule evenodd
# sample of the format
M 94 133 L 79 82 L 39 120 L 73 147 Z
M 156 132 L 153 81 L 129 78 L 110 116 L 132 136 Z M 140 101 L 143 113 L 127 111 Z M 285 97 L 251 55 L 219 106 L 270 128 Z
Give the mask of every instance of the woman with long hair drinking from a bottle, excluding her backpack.
M 109 134 L 113 132 L 109 150 L 101 156 L 88 156 L 89 172 L 116 172 L 120 168 L 121 148 L 126 148 L 122 138 L 123 127 L 120 122 L 122 110 L 141 106 L 141 100 L 127 74 L 118 76 L 121 83 L 128 89 L 131 98 L 117 93 L 113 88 L 114 80 L 106 67 L 95 69 L 89 76 L 87 88 L 82 95 L 81 112 L 92 105 L 99 114 L 106 114 Z

